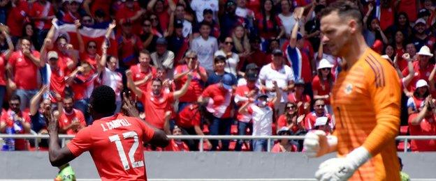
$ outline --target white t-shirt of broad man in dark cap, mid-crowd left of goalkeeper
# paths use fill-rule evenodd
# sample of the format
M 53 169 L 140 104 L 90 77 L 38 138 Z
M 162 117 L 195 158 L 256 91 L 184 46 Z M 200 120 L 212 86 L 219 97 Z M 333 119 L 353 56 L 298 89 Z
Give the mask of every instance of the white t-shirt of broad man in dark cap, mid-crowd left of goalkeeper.
M 273 81 L 277 81 L 277 86 L 279 88 L 284 88 L 288 86 L 289 81 L 293 81 L 295 77 L 293 77 L 293 70 L 288 65 L 283 65 L 280 70 L 274 70 L 271 67 L 272 63 L 268 65 L 263 65 L 261 68 L 261 72 L 259 73 L 259 79 L 261 81 L 265 81 L 265 86 L 267 88 L 273 88 Z M 275 93 L 267 93 L 268 97 L 272 98 L 275 96 Z M 282 93 L 282 99 L 280 102 L 287 102 L 286 93 Z

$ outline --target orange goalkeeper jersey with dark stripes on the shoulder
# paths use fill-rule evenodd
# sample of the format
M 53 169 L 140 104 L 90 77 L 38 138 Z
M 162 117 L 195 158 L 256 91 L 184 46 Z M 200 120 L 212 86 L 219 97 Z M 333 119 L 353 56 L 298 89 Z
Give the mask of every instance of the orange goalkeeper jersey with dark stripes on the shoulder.
M 393 66 L 369 48 L 338 75 L 331 97 L 338 157 L 361 145 L 372 155 L 350 180 L 400 180 L 395 148 L 400 93 Z

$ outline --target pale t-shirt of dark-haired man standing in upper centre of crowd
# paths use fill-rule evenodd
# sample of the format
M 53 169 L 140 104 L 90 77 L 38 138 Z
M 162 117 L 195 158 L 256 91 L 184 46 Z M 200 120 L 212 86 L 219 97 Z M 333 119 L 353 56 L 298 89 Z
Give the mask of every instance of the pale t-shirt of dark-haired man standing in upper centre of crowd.
M 208 40 L 198 36 L 192 40 L 191 49 L 197 52 L 198 62 L 205 70 L 213 70 L 214 53 L 218 50 L 217 38 L 209 36 Z

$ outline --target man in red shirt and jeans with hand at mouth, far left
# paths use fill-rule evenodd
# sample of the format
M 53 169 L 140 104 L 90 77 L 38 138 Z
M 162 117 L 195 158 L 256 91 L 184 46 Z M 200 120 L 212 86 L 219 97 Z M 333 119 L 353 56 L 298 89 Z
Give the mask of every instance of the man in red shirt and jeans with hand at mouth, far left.
M 39 90 L 38 68 L 45 63 L 39 58 L 39 52 L 31 50 L 31 42 L 27 39 L 20 40 L 20 49 L 10 55 L 6 70 L 11 87 L 16 87 L 16 94 L 20 96 L 20 109 L 29 107 L 31 97 Z

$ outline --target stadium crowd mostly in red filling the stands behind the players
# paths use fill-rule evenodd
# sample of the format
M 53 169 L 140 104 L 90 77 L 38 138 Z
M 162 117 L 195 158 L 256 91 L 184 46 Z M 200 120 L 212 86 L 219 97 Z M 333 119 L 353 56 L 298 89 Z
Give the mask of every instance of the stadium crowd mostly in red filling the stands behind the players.
M 342 60 L 321 41 L 319 14 L 331 2 L 2 0 L 0 132 L 47 134 L 43 111 L 52 109 L 59 132 L 76 134 L 92 124 L 92 90 L 107 85 L 117 95 L 117 112 L 124 112 L 122 95 L 129 94 L 140 117 L 166 134 L 330 134 L 330 92 Z M 436 135 L 436 3 L 354 3 L 368 46 L 401 79 L 400 134 Z M 35 145 L 1 143 L 3 150 Z M 267 149 L 267 140 L 172 140 L 167 148 L 147 149 L 188 151 L 198 144 Z M 303 149 L 301 141 L 272 144 L 273 152 Z M 436 151 L 435 140 L 404 145 L 398 142 L 398 150 Z

